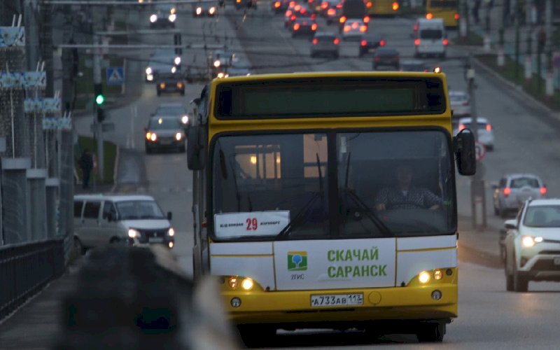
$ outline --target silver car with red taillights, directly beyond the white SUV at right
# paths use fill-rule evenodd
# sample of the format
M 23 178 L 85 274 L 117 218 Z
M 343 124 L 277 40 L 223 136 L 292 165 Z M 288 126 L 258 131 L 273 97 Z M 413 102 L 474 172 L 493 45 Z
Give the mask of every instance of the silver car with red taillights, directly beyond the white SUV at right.
M 494 214 L 503 218 L 510 211 L 517 211 L 529 198 L 546 197 L 547 187 L 535 174 L 507 174 L 493 185 Z

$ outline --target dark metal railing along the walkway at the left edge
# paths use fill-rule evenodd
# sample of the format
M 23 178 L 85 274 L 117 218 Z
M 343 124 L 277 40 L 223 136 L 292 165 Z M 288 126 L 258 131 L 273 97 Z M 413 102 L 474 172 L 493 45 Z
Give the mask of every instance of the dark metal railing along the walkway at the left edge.
M 0 246 L 0 320 L 62 272 L 62 238 Z

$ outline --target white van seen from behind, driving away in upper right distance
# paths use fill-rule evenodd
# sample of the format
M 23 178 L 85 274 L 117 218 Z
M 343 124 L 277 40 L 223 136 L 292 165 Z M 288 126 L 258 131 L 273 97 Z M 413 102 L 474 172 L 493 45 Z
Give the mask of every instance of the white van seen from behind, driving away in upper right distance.
M 414 25 L 414 57 L 438 56 L 447 53 L 447 32 L 442 18 L 419 18 Z

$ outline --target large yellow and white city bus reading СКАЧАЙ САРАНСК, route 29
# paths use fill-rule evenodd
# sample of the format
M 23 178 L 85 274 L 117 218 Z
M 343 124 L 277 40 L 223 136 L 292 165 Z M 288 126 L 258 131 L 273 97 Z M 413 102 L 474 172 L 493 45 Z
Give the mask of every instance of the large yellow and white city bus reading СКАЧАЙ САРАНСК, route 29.
M 220 277 L 246 344 L 325 327 L 442 341 L 457 316 L 454 158 L 475 172 L 443 73 L 215 79 L 193 102 L 194 274 Z M 412 204 L 381 210 L 406 167 Z

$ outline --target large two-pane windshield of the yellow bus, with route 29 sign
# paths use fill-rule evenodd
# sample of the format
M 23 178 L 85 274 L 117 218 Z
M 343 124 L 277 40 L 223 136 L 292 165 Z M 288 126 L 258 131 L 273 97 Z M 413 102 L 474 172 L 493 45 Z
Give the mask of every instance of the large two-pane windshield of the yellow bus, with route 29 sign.
M 214 236 L 270 240 L 454 233 L 449 149 L 442 130 L 219 137 L 211 167 Z M 413 173 L 406 188 L 396 182 L 405 168 Z M 288 224 L 290 232 L 283 235 Z

